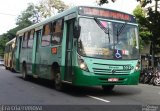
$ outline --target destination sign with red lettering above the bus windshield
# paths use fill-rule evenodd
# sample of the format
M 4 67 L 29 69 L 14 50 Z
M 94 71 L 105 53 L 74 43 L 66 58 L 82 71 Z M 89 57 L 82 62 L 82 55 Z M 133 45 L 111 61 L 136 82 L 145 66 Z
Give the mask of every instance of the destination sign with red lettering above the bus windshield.
M 103 8 L 79 7 L 79 14 L 99 16 L 99 17 L 105 17 L 105 18 L 117 19 L 117 20 L 123 20 L 123 21 L 133 21 L 132 15 L 114 11 L 114 10 L 103 9 Z

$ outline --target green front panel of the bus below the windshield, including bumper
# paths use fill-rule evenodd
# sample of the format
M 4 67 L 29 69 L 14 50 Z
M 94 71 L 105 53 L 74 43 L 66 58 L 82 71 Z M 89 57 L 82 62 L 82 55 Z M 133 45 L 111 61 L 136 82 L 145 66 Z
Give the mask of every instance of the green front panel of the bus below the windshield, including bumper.
M 74 66 L 73 84 L 76 85 L 137 85 L 140 71 L 135 67 L 138 60 L 104 60 L 83 58 L 89 71 Z M 127 63 L 126 63 L 127 62 Z M 114 70 L 114 72 L 112 72 Z M 117 82 L 109 82 L 109 78 L 117 78 Z

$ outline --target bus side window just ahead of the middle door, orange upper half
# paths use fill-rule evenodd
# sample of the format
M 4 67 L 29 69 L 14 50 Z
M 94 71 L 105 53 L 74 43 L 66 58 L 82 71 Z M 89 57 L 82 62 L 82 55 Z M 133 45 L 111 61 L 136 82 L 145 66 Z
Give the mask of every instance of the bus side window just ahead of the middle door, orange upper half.
M 50 23 L 44 25 L 43 27 L 43 35 L 42 35 L 42 46 L 49 46 L 50 45 L 50 38 L 51 38 L 51 28 L 50 28 Z

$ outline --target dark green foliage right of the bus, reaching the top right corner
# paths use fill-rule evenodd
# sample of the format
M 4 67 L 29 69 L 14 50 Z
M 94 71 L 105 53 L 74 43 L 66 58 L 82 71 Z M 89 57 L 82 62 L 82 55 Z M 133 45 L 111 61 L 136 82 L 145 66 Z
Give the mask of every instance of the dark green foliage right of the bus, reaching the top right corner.
M 140 1 L 141 7 L 145 7 L 147 4 L 151 3 L 153 0 L 138 0 Z M 152 7 L 148 7 L 146 10 L 146 16 L 139 17 L 136 16 L 140 24 L 140 36 L 144 41 L 151 41 L 153 44 L 152 55 L 160 52 L 160 12 L 157 11 L 158 1 L 156 1 L 155 10 Z M 144 20 L 142 19 L 144 18 Z

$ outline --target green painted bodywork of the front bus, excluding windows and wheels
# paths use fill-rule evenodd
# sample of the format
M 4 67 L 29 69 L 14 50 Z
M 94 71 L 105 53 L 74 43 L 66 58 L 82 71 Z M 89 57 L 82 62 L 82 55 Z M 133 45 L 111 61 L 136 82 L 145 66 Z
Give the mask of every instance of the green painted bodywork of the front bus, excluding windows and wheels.
M 78 52 L 78 40 L 74 37 L 74 22 L 78 21 L 82 15 L 78 15 L 79 8 L 67 10 L 58 16 L 51 17 L 46 21 L 32 25 L 28 28 L 17 32 L 21 35 L 27 31 L 35 30 L 33 48 L 22 48 L 20 40 L 17 41 L 16 50 L 16 69 L 22 71 L 22 65 L 27 64 L 27 73 L 52 80 L 52 65 L 57 63 L 60 66 L 61 80 L 79 86 L 95 86 L 95 85 L 137 85 L 140 70 L 135 67 L 138 58 L 131 59 L 102 59 L 80 55 Z M 88 9 L 87 9 L 88 10 Z M 73 13 L 76 13 L 73 14 Z M 119 14 L 120 12 L 118 12 Z M 68 15 L 74 15 L 70 17 Z M 90 14 L 89 11 L 87 14 Z M 84 18 L 93 19 L 95 16 L 83 15 Z M 115 16 L 115 13 L 112 13 Z M 106 15 L 107 16 L 107 15 Z M 117 16 L 116 16 L 117 17 Z M 65 18 L 63 23 L 63 37 L 60 45 L 41 46 L 43 27 L 47 23 L 54 23 L 58 19 Z M 99 17 L 100 18 L 100 17 Z M 123 16 L 122 16 L 123 18 Z M 105 18 L 103 18 L 104 20 Z M 108 18 L 111 20 L 111 18 Z M 118 18 L 117 18 L 118 19 Z M 115 20 L 116 21 L 116 20 Z M 118 22 L 124 22 L 117 20 Z M 135 24 L 135 23 L 134 23 Z M 90 27 L 86 27 L 90 28 Z M 53 36 L 53 35 L 52 35 Z M 17 37 L 19 38 L 19 37 Z M 21 40 L 22 41 L 22 40 Z M 23 41 L 22 41 L 23 42 Z M 55 52 L 56 50 L 56 52 Z M 79 58 L 81 57 L 86 63 L 88 70 L 80 68 Z M 20 62 L 20 65 L 19 65 Z M 109 81 L 110 78 L 116 78 L 118 81 Z

